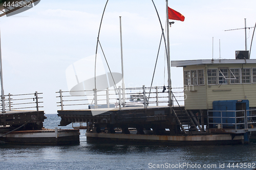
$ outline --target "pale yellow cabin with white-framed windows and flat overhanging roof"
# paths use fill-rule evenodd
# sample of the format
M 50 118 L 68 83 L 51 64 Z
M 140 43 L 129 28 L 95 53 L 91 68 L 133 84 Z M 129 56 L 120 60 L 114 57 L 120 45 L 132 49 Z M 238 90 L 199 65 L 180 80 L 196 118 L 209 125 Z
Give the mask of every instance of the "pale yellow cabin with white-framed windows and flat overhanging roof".
M 186 110 L 211 110 L 213 101 L 249 100 L 256 108 L 256 59 L 172 61 L 183 67 Z

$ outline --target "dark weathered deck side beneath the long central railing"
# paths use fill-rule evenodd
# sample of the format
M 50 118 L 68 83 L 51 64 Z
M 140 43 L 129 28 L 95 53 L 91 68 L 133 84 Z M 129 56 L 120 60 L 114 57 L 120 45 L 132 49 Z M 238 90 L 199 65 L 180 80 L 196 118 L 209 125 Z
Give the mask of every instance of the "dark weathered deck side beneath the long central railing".
M 94 109 L 97 110 L 97 109 Z M 99 109 L 103 110 L 103 109 Z M 163 114 L 158 114 L 162 111 Z M 58 110 L 61 117 L 60 126 L 67 126 L 74 122 L 94 122 L 97 124 L 123 124 L 129 122 L 156 122 L 167 120 L 170 108 L 166 106 L 148 107 L 127 107 L 122 110 L 108 110 L 105 113 L 93 116 L 91 109 L 86 110 Z M 157 114 L 156 114 L 157 112 Z

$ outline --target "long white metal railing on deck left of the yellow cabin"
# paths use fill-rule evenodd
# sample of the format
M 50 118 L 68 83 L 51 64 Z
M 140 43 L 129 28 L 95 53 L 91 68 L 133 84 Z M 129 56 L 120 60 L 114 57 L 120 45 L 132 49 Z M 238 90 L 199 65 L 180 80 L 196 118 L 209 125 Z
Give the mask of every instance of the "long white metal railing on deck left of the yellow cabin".
M 178 92 L 178 101 L 184 101 L 183 88 L 176 89 L 181 89 Z M 123 91 L 124 95 L 122 93 Z M 117 89 L 107 88 L 105 90 L 59 90 L 56 93 L 58 93 L 56 98 L 59 98 L 57 106 L 60 106 L 61 110 L 168 106 L 168 89 L 163 91 L 163 87 L 157 86 L 150 88 L 143 85 L 143 87 L 125 88 L 124 90 L 120 86 Z M 177 102 L 175 101 L 175 103 Z

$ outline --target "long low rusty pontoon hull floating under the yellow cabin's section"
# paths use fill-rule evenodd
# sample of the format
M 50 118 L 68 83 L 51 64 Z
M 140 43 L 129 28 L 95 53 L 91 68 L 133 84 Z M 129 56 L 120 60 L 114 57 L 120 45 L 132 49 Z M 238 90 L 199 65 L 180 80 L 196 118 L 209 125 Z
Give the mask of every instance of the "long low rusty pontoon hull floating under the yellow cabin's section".
M 86 133 L 88 142 L 114 142 L 127 144 L 163 144 L 163 145 L 225 145 L 243 144 L 244 136 L 231 134 L 207 135 L 137 135 L 137 134 L 110 134 Z

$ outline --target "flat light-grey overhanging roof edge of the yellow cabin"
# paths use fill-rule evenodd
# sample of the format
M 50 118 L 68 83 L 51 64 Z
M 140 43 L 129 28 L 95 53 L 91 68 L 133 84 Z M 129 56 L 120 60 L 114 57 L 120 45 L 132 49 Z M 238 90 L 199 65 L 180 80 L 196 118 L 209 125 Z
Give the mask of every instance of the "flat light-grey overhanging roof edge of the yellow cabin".
M 187 65 L 201 64 L 256 64 L 256 59 L 230 59 L 230 60 L 180 60 L 171 61 L 172 67 L 183 67 Z

